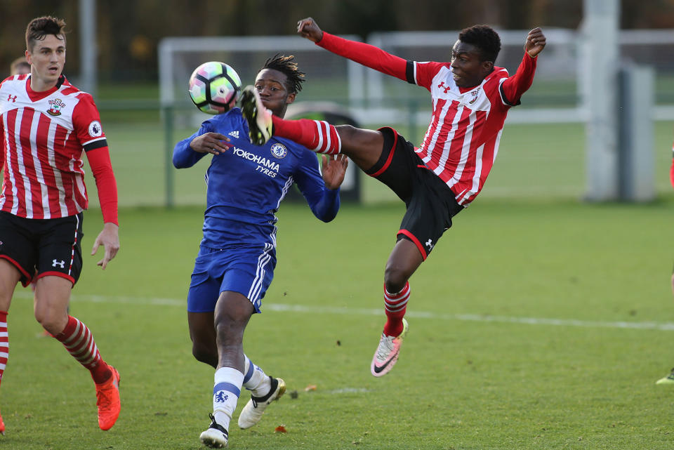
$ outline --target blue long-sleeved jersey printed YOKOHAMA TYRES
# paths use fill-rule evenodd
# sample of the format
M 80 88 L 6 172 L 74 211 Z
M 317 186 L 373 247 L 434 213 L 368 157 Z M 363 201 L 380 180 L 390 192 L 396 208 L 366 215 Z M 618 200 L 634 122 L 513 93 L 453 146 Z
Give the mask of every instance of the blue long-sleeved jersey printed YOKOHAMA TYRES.
M 209 132 L 230 138 L 226 152 L 192 150 L 192 139 Z M 317 218 L 329 222 L 337 214 L 339 190 L 325 186 L 315 153 L 283 138 L 272 137 L 262 146 L 251 144 L 248 124 L 237 107 L 204 121 L 197 133 L 176 144 L 173 165 L 191 167 L 207 154 L 212 159 L 206 171 L 203 246 L 276 246 L 275 213 L 293 183 Z

